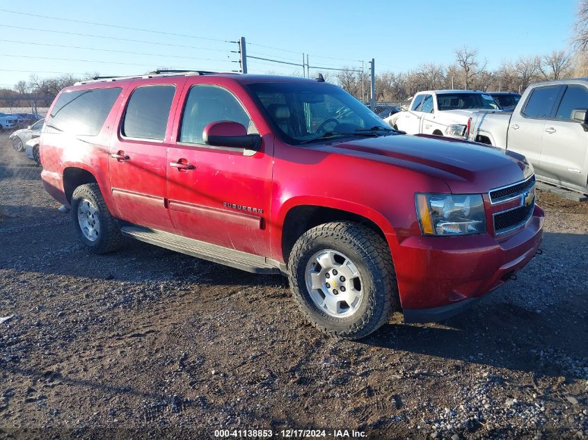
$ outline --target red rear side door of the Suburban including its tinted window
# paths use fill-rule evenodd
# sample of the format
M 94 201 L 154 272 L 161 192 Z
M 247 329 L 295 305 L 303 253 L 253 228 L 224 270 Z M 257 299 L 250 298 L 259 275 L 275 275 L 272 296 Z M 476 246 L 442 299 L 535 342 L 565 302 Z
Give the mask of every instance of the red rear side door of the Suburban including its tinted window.
M 166 209 L 166 133 L 178 79 L 129 88 L 110 145 L 110 181 L 118 218 L 173 231 Z

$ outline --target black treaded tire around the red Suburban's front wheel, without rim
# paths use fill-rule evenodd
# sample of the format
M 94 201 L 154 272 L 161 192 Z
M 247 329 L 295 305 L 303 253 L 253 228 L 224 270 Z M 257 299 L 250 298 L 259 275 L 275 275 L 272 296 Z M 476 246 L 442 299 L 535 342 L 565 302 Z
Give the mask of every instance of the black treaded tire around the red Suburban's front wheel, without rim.
M 358 247 L 363 254 L 368 256 L 372 265 L 379 272 L 379 277 L 376 279 L 376 286 L 372 286 L 369 292 L 372 299 L 369 302 L 371 307 L 365 311 L 360 323 L 353 326 L 348 332 L 336 332 L 312 319 L 300 293 L 300 289 L 305 289 L 306 287 L 299 286 L 296 265 L 303 255 L 313 247 L 312 243 L 315 239 L 320 236 L 333 238 L 338 242 L 345 241 L 351 246 Z M 317 329 L 321 330 L 321 332 L 332 336 L 337 336 L 342 339 L 363 338 L 388 322 L 392 311 L 399 308 L 395 272 L 388 243 L 372 229 L 356 222 L 329 222 L 306 231 L 292 248 L 288 260 L 288 272 L 294 299 L 299 304 L 307 320 L 317 327 Z M 383 295 L 383 298 L 381 298 L 383 300 L 383 307 L 379 311 L 373 308 L 375 295 Z

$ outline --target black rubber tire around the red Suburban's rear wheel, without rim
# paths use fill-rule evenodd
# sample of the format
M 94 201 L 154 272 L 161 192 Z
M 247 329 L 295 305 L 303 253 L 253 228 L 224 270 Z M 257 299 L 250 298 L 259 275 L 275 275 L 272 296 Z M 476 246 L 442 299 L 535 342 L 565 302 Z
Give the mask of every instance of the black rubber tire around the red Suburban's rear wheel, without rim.
M 93 254 L 106 254 L 120 249 L 125 238 L 120 232 L 118 222 L 113 218 L 106 206 L 106 202 L 104 202 L 104 197 L 102 197 L 102 193 L 100 192 L 100 186 L 98 184 L 80 185 L 74 190 L 72 195 L 74 225 L 79 234 L 81 234 L 77 220 L 77 204 L 74 206 L 74 200 L 78 198 L 86 198 L 93 202 L 98 209 L 98 215 L 100 215 L 100 243 L 95 246 L 88 246 L 88 250 L 93 252 Z

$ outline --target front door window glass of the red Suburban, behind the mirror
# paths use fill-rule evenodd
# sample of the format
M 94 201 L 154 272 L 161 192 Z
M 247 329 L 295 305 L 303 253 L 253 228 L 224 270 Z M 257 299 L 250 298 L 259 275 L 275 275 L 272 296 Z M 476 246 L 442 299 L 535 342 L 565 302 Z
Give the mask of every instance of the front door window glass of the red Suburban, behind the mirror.
M 203 144 L 202 131 L 216 121 L 239 122 L 247 133 L 257 133 L 246 111 L 228 90 L 212 85 L 193 86 L 184 106 L 180 142 Z

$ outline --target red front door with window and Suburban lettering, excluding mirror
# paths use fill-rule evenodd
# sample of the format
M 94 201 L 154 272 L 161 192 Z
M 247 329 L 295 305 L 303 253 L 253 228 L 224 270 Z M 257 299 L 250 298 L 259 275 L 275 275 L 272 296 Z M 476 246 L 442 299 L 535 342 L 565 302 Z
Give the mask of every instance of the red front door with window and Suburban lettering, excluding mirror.
M 211 122 L 239 122 L 256 133 L 241 102 L 217 85 L 196 84 L 168 149 L 168 206 L 177 234 L 257 255 L 269 255 L 273 138 L 251 156 L 243 149 L 212 147 L 202 140 Z M 178 109 L 180 113 L 180 109 Z

